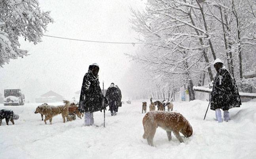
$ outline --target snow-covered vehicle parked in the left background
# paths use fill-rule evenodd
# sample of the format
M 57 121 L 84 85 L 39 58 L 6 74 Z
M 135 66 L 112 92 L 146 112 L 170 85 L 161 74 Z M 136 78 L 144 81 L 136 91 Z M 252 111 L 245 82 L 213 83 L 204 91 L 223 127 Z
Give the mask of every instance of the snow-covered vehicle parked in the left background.
M 25 96 L 20 89 L 4 90 L 4 105 L 24 105 Z

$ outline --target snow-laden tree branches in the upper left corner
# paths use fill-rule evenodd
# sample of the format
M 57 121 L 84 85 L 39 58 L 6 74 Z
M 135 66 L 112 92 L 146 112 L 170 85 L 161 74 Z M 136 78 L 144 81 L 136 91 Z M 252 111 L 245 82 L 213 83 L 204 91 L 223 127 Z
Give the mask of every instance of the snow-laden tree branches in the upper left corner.
M 38 0 L 0 1 L 0 67 L 28 55 L 19 49 L 19 37 L 37 44 L 42 41 L 47 24 L 53 22 L 49 11 L 41 11 Z

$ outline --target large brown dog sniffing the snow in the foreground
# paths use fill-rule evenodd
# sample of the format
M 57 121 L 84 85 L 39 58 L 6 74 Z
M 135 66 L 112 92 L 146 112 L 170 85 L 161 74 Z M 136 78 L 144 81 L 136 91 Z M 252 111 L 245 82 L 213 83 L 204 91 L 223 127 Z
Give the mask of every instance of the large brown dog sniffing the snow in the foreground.
M 185 137 L 190 137 L 193 133 L 192 126 L 188 120 L 180 113 L 175 112 L 150 111 L 144 116 L 142 124 L 144 127 L 143 138 L 147 139 L 150 146 L 154 146 L 153 139 L 158 126 L 166 130 L 169 141 L 172 139 L 172 131 L 180 142 L 183 142 L 180 132 Z

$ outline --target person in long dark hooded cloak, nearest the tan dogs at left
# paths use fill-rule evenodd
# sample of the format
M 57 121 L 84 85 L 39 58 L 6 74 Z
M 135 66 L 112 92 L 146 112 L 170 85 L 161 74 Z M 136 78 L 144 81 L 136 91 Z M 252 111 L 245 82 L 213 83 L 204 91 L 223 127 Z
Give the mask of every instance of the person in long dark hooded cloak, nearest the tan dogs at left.
M 84 112 L 85 126 L 94 125 L 93 112 L 105 109 L 98 73 L 99 65 L 93 63 L 83 77 L 78 109 Z

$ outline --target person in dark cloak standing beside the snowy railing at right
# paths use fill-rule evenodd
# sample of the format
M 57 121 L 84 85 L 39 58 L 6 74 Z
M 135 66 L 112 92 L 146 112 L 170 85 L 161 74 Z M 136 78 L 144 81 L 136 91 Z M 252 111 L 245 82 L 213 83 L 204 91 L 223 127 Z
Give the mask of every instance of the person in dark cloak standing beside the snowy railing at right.
M 228 110 L 233 107 L 240 107 L 241 100 L 235 79 L 225 68 L 220 59 L 213 63 L 217 72 L 211 92 L 210 109 L 215 111 L 216 120 L 222 122 L 220 109 L 224 111 L 224 121 L 230 120 Z

